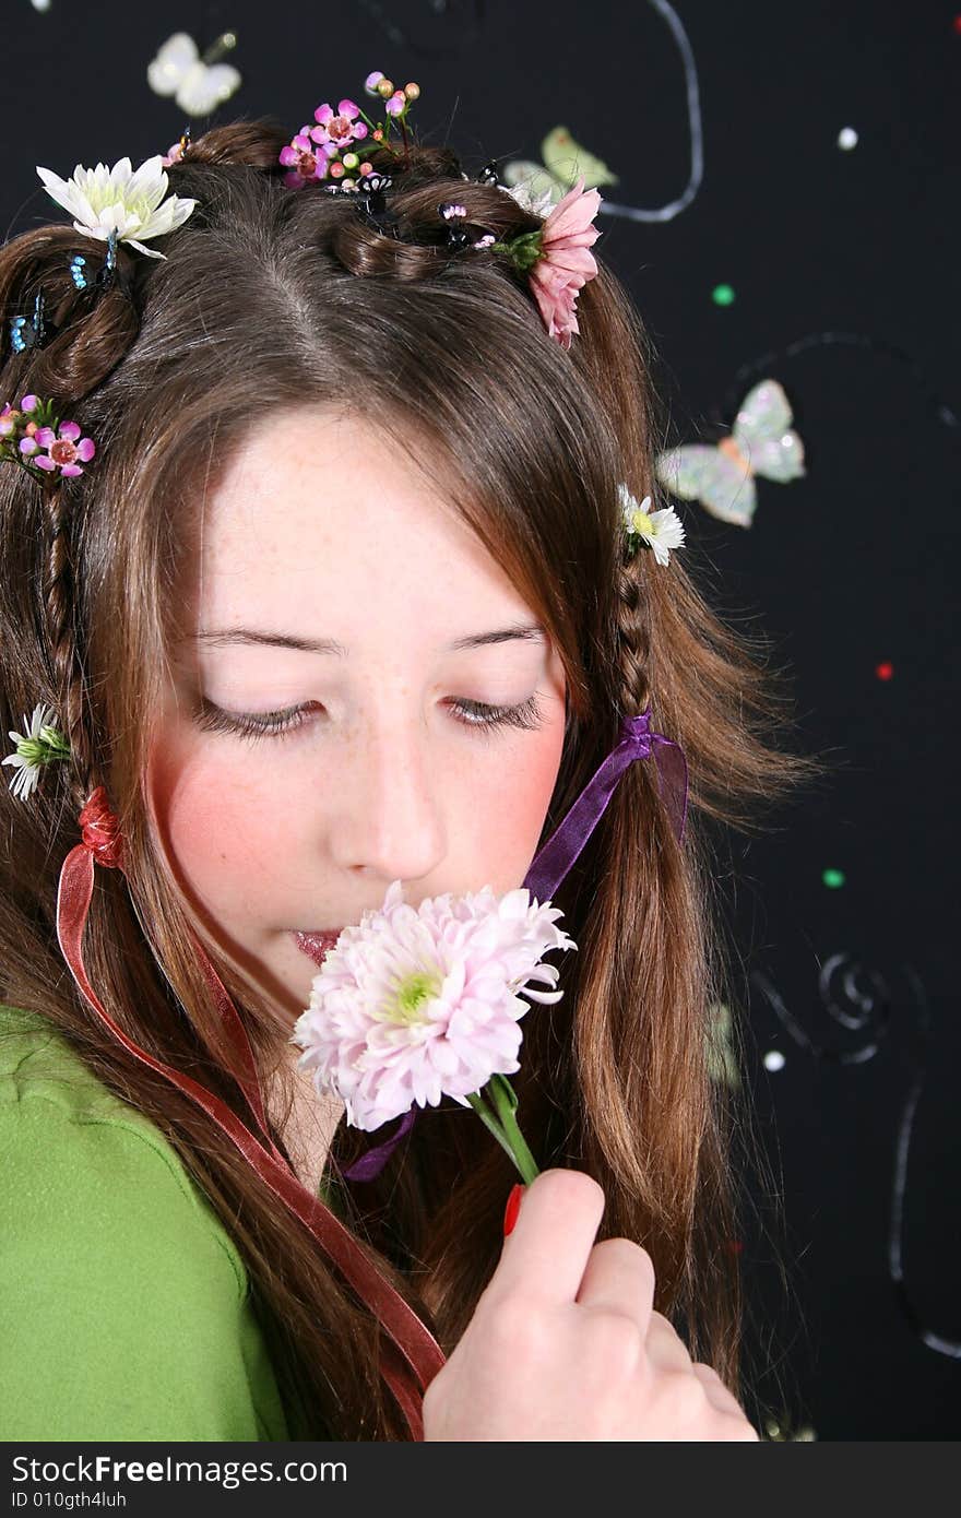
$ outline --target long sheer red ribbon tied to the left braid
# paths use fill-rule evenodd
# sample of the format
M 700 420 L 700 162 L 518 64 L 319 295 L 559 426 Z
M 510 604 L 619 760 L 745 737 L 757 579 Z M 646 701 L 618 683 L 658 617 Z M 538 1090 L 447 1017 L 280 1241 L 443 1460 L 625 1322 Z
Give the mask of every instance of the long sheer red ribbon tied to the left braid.
M 83 841 L 70 850 L 61 867 L 56 893 L 56 937 L 80 993 L 124 1049 L 178 1085 L 214 1119 L 237 1145 L 247 1163 L 254 1166 L 261 1179 L 310 1228 L 314 1239 L 339 1268 L 345 1280 L 354 1287 L 364 1305 L 384 1325 L 390 1337 L 381 1346 L 381 1375 L 407 1419 L 411 1439 L 422 1441 L 422 1397 L 443 1365 L 443 1351 L 414 1310 L 395 1290 L 390 1281 L 381 1275 L 377 1266 L 367 1260 L 349 1230 L 343 1227 L 340 1219 L 336 1217 L 319 1196 L 311 1196 L 307 1187 L 301 1184 L 269 1137 L 250 1041 L 237 1014 L 237 1008 L 202 946 L 194 940 L 194 950 L 214 991 L 228 1035 L 247 1070 L 247 1081 L 241 1082 L 241 1090 L 257 1117 L 261 1132 L 267 1137 L 269 1149 L 254 1137 L 249 1128 L 240 1122 L 237 1114 L 219 1096 L 214 1096 L 213 1091 L 208 1091 L 206 1087 L 193 1081 L 188 1075 L 173 1070 L 170 1066 L 155 1060 L 144 1049 L 140 1049 L 102 1006 L 97 993 L 90 984 L 83 965 L 82 947 L 83 927 L 93 897 L 94 861 L 111 870 L 123 870 L 120 827 L 109 809 L 103 786 L 97 786 L 91 794 L 80 812 L 79 821 L 83 830 Z

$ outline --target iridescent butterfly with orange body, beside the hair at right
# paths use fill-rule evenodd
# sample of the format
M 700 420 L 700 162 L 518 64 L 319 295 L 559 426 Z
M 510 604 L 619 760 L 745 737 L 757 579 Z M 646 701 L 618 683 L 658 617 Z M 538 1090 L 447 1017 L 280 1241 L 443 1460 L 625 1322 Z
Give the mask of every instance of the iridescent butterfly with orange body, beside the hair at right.
M 730 437 L 670 448 L 657 454 L 654 474 L 682 501 L 700 501 L 718 521 L 750 527 L 758 504 L 755 475 L 786 484 L 805 474 L 805 445 L 791 420 L 777 381 L 762 380 L 741 402 Z

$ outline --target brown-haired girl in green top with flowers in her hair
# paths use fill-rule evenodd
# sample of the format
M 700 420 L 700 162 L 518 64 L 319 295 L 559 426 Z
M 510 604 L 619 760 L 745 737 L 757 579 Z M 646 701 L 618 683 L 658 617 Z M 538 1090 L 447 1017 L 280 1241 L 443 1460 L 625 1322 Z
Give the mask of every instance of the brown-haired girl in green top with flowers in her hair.
M 755 1439 L 711 826 L 815 765 L 768 745 L 762 648 L 638 507 L 651 351 L 592 238 L 551 284 L 548 223 L 452 152 L 375 147 L 363 197 L 298 188 L 284 144 L 172 153 L 162 258 L 65 225 L 0 252 L 3 727 L 46 703 L 68 744 L 41 776 L 24 727 L 0 802 L 3 1436 L 416 1438 L 407 1312 L 449 1357 L 427 1439 Z M 44 443 L 38 404 L 77 427 Z M 454 1102 L 349 1179 L 369 1140 L 290 1043 L 319 935 L 393 879 L 516 888 L 647 707 L 686 835 L 630 764 L 556 893 L 578 953 L 524 1022 L 547 1173 L 510 1237 L 510 1161 Z M 82 809 L 112 1026 L 58 929 Z

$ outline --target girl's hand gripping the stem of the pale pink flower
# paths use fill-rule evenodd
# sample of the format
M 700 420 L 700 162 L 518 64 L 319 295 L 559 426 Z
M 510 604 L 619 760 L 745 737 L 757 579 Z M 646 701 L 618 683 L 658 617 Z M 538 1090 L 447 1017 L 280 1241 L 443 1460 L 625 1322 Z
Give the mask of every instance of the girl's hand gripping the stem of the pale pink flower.
M 758 1441 L 721 1378 L 653 1312 L 654 1268 L 594 1243 L 604 1193 L 545 1170 L 474 1316 L 424 1397 L 425 1441 Z

